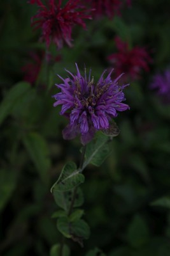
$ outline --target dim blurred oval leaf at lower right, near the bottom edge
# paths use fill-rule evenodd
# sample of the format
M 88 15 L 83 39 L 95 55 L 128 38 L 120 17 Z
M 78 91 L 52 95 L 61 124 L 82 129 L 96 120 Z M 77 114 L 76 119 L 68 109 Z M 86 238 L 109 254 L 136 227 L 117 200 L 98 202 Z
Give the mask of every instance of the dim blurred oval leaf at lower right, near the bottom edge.
M 145 220 L 139 215 L 135 215 L 127 229 L 127 241 L 136 248 L 143 246 L 150 238 L 150 232 Z

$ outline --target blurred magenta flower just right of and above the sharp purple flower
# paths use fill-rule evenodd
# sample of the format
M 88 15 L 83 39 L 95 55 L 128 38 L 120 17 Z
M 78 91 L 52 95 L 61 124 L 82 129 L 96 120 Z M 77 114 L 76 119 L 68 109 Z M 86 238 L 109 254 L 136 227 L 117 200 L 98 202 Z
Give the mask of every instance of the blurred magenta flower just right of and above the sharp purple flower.
M 152 59 L 144 47 L 136 46 L 129 49 L 129 44 L 123 42 L 118 36 L 115 38 L 115 44 L 118 52 L 108 56 L 108 60 L 115 65 L 117 76 L 125 73 L 125 76 L 138 79 L 142 69 L 146 72 L 149 71 L 148 63 L 150 63 Z

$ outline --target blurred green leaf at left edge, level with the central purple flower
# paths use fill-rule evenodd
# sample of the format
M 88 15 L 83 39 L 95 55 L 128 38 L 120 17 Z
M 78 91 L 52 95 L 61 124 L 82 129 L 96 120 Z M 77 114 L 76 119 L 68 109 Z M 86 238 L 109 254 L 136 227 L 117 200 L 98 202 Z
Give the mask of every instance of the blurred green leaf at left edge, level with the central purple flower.
M 10 115 L 10 113 L 13 111 L 13 108 L 15 107 L 18 102 L 20 102 L 20 99 L 22 97 L 25 97 L 29 90 L 31 89 L 31 86 L 29 83 L 26 82 L 20 82 L 15 84 L 6 94 L 3 101 L 0 104 L 0 125 L 4 121 L 4 119 Z

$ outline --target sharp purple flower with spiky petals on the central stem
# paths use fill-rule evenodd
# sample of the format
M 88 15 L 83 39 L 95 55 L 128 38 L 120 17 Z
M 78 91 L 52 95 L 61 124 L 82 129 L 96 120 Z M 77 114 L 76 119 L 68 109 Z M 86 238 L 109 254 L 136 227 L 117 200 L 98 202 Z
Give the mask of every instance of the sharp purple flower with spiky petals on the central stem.
M 85 145 L 92 140 L 97 130 L 109 128 L 110 120 L 117 116 L 117 111 L 129 109 L 127 104 L 122 103 L 125 100 L 122 90 L 127 84 L 118 85 L 122 75 L 111 81 L 113 70 L 104 79 L 105 70 L 97 83 L 94 83 L 94 77 L 90 77 L 91 70 L 89 77 L 86 68 L 84 77 L 77 65 L 76 70 L 75 75 L 66 70 L 71 76 L 66 79 L 59 76 L 63 83 L 56 84 L 61 92 L 52 96 L 57 100 L 53 106 L 61 104 L 60 115 L 69 117 L 69 124 L 62 131 L 64 139 L 71 140 L 81 134 L 81 143 Z

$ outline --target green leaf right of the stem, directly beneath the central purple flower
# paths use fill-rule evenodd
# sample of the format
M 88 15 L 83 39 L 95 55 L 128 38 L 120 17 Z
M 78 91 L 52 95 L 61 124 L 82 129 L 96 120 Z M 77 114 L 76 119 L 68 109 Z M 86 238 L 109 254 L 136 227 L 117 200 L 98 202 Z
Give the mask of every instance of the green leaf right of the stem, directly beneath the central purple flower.
M 85 153 L 85 163 L 82 170 L 87 164 L 92 163 L 96 166 L 100 166 L 106 157 L 110 154 L 110 147 L 108 146 L 108 136 L 100 133 L 97 138 L 92 140 L 88 145 Z

